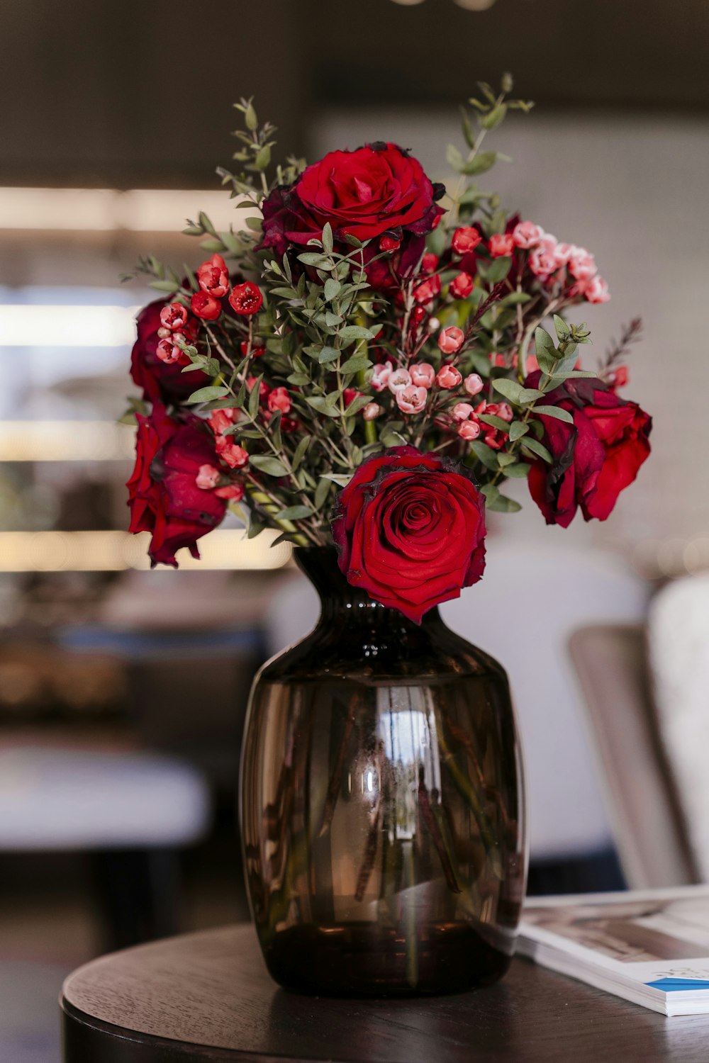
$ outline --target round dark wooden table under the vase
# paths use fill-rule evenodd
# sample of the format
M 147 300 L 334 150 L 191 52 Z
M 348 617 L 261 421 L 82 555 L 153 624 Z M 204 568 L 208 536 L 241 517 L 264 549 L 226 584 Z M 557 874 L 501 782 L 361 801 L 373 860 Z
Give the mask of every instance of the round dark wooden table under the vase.
M 307 956 L 303 957 L 307 963 Z M 706 1063 L 709 1015 L 665 1018 L 527 960 L 444 997 L 278 989 L 250 926 L 95 960 L 64 985 L 65 1063 Z

